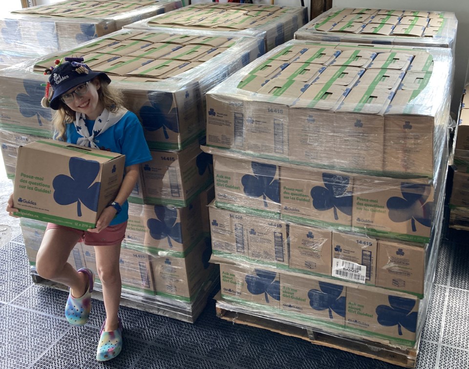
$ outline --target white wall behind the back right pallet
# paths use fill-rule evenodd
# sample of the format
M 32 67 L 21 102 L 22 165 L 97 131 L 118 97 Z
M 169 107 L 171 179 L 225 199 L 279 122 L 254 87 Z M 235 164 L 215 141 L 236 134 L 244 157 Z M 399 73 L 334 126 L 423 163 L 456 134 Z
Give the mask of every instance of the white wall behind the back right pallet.
M 333 0 L 334 6 L 346 8 L 387 8 L 454 12 L 458 19 L 456 37 L 456 70 L 452 110 L 457 111 L 469 58 L 469 1 L 468 0 Z

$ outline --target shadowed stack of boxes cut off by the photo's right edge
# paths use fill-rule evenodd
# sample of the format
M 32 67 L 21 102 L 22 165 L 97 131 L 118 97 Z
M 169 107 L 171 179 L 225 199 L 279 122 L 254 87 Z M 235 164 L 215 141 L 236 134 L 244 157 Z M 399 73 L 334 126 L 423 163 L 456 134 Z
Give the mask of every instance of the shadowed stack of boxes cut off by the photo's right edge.
M 469 104 L 467 88 L 461 100 L 455 133 L 453 181 L 449 199 L 449 227 L 469 230 Z

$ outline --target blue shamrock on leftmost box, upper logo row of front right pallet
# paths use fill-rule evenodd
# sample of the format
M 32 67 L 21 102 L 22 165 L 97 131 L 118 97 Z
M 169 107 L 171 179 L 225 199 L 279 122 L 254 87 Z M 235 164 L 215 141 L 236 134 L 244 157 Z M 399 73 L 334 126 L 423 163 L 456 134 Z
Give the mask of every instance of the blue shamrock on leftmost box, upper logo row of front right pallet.
M 274 180 L 277 166 L 274 164 L 262 164 L 252 162 L 254 175 L 245 174 L 241 178 L 244 193 L 250 197 L 262 196 L 264 207 L 267 207 L 267 197 L 273 202 L 280 203 L 280 183 Z

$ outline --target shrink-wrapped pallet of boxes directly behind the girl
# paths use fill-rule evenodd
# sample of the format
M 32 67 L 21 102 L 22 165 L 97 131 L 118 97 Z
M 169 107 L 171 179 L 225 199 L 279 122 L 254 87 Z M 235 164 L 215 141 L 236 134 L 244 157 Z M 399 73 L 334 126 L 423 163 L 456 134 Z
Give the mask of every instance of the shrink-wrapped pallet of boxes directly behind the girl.
M 43 70 L 55 59 L 83 56 L 90 68 L 106 72 L 123 91 L 126 107 L 142 122 L 153 159 L 142 164 L 141 178 L 129 198 L 120 260 L 123 305 L 193 322 L 218 283 L 217 268 L 208 262 L 212 157 L 199 143 L 205 137 L 205 92 L 263 53 L 264 42 L 251 37 L 206 36 L 191 30 L 121 30 L 0 72 L 1 134 L 12 143 L 4 151 L 12 179 L 21 167 L 18 150 L 28 147 L 20 146 L 36 138 L 39 145 L 54 143 L 43 139 L 52 133 L 51 111 L 41 107 L 40 101 L 47 78 Z M 37 133 L 35 138 L 31 132 Z M 71 175 L 68 168 L 64 171 Z M 41 188 L 55 191 L 51 179 L 26 175 L 34 177 L 28 180 L 41 182 Z M 26 248 L 37 249 L 45 229 L 40 215 L 44 202 L 36 201 L 38 192 L 31 191 L 24 198 L 37 206 L 32 209 L 27 204 L 32 216 L 22 218 L 21 225 Z M 76 215 L 78 203 L 59 207 L 64 214 Z M 84 204 L 81 209 L 85 212 Z M 62 218 L 69 221 L 66 215 Z M 80 263 L 96 271 L 93 248 L 77 247 L 75 265 L 80 255 Z M 34 253 L 28 255 L 34 266 Z M 98 278 L 96 285 L 99 290 Z M 95 296 L 100 298 L 99 292 Z

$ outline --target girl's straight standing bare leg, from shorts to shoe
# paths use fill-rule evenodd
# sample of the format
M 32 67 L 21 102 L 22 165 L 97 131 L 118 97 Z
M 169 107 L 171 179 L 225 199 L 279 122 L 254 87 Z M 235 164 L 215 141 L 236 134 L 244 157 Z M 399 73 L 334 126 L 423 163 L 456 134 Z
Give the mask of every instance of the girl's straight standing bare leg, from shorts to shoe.
M 121 244 L 95 246 L 96 267 L 103 285 L 103 300 L 106 308 L 106 331 L 119 327 L 117 312 L 121 301 L 122 281 L 119 271 Z

